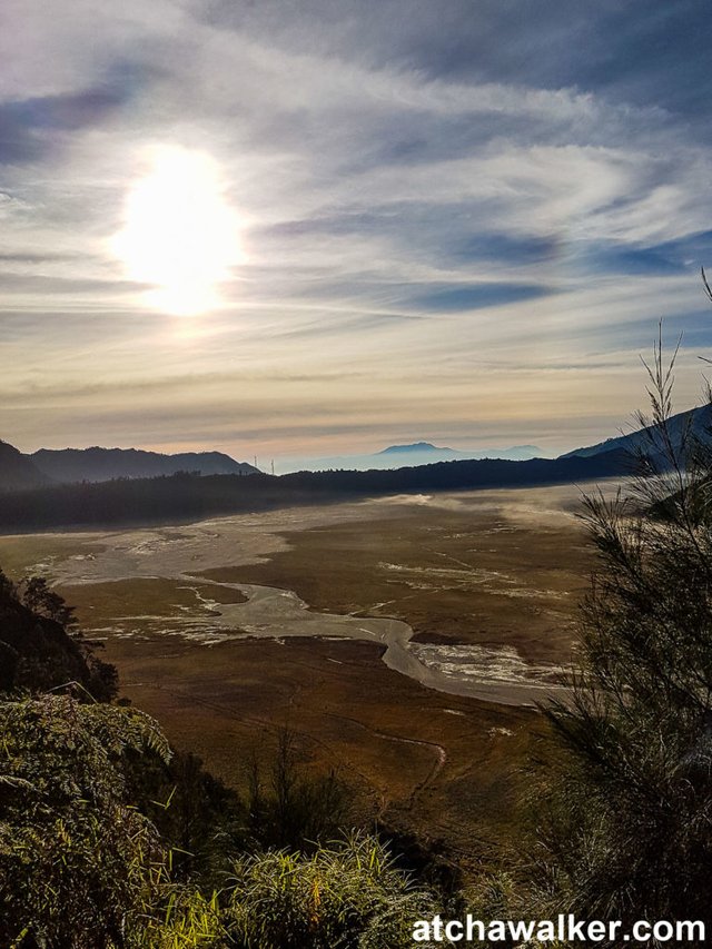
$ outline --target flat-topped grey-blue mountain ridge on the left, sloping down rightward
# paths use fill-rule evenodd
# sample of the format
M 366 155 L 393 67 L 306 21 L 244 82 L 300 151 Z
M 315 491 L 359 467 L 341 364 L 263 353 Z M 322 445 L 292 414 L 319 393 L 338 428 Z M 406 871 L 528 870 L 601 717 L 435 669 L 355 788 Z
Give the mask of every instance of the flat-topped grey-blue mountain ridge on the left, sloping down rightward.
M 255 474 L 257 468 L 221 452 L 162 455 L 137 448 L 40 448 L 29 456 L 48 478 L 57 482 L 99 482 L 118 477 L 145 478 L 197 472 L 200 475 Z

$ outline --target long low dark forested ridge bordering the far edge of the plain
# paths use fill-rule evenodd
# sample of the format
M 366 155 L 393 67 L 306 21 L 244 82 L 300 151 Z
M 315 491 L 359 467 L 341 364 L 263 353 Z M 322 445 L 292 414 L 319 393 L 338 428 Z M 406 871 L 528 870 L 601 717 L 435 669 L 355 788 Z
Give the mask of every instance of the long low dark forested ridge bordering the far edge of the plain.
M 438 491 L 533 487 L 630 474 L 625 452 L 590 458 L 437 462 L 395 471 L 298 472 L 275 477 L 214 475 L 56 484 L 0 493 L 0 533 L 69 526 L 187 523 L 206 517 L 330 504 L 345 498 Z

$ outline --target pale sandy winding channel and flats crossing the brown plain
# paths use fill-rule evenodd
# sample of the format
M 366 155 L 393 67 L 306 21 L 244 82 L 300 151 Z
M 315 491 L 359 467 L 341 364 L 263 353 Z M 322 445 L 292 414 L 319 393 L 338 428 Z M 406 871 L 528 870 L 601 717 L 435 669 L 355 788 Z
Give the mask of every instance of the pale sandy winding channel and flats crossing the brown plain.
M 617 485 L 603 491 L 611 495 Z M 399 495 L 359 503 L 290 508 L 254 515 L 214 518 L 187 526 L 81 534 L 23 535 L 0 538 L 3 553 L 24 557 L 27 572 L 43 573 L 67 590 L 136 577 L 164 577 L 185 582 L 196 594 L 195 607 L 176 607 L 170 632 L 209 646 L 245 635 L 281 639 L 318 636 L 363 640 L 386 645 L 383 661 L 427 688 L 455 695 L 504 704 L 533 704 L 560 691 L 562 670 L 553 664 L 524 662 L 510 645 L 413 643 L 412 627 L 399 620 L 312 612 L 290 590 L 240 583 L 219 583 L 196 574 L 221 566 L 264 562 L 287 547 L 285 533 L 330 524 L 393 518 L 426 507 L 463 515 L 496 515 L 504 524 L 546 525 L 574 521 L 582 491 L 592 485 L 483 491 L 449 495 Z M 365 524 L 367 530 L 367 524 Z M 506 530 L 506 526 L 503 528 Z M 535 552 L 533 552 L 535 557 Z M 398 564 L 394 570 L 402 570 Z M 466 565 L 465 565 L 466 566 Z M 461 571 L 462 572 L 462 571 Z M 224 603 L 200 594 L 195 584 L 231 587 L 245 594 L 244 603 Z M 526 595 L 511 591 L 508 595 Z M 164 616 L 134 617 L 144 630 L 166 630 Z M 111 626 L 90 630 L 116 634 Z M 131 635 L 123 631 L 121 635 Z

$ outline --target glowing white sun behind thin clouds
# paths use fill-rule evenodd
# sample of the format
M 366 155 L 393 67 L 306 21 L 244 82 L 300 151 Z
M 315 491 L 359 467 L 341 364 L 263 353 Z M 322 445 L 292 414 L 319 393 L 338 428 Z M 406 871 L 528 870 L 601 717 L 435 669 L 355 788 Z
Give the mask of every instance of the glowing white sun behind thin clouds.
M 155 287 L 148 293 L 155 309 L 196 316 L 218 306 L 219 286 L 244 254 L 217 162 L 201 151 L 151 149 L 111 246 L 130 279 Z

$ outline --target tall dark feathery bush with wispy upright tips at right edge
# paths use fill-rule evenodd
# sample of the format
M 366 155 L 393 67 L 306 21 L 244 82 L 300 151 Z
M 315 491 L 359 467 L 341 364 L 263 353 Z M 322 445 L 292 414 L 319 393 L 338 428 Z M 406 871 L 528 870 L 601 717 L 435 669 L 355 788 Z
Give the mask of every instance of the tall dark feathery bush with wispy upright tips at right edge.
M 599 569 L 571 699 L 547 711 L 540 899 L 712 926 L 712 462 L 670 425 L 673 363 L 656 349 L 640 477 L 586 502 Z

